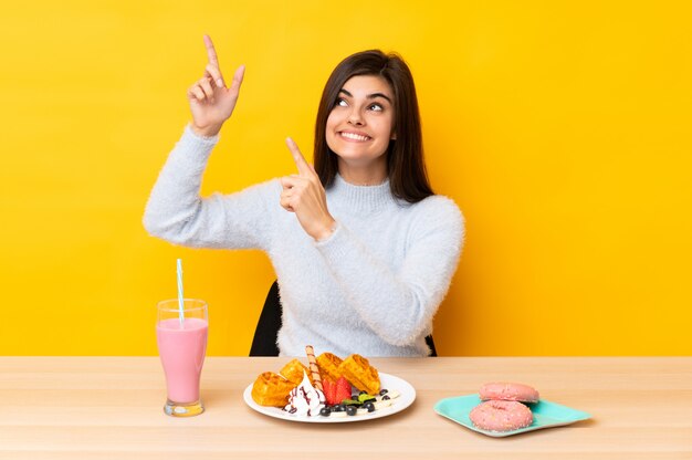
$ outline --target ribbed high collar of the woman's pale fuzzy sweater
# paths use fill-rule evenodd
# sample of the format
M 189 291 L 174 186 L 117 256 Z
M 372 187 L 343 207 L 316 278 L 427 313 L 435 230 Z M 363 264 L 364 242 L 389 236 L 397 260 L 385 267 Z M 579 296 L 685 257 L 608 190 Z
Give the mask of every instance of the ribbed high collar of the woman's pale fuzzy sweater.
M 359 213 L 377 212 L 397 202 L 391 195 L 388 178 L 377 186 L 356 186 L 337 174 L 327 192 L 336 202 Z

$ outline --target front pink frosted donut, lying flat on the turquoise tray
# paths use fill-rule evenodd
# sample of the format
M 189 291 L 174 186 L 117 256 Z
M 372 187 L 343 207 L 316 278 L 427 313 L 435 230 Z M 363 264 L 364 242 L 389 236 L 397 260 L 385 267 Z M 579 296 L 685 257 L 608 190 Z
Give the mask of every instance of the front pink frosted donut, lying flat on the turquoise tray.
M 475 406 L 469 414 L 474 426 L 489 431 L 512 431 L 534 421 L 531 409 L 518 401 L 490 400 Z

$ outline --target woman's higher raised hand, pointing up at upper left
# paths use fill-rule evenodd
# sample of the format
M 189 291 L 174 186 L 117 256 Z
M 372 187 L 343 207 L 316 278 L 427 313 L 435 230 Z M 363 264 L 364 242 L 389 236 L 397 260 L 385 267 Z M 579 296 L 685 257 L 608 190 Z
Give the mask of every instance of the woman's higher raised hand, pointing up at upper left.
M 209 35 L 205 35 L 205 45 L 209 58 L 205 76 L 189 87 L 187 95 L 192 112 L 192 129 L 200 136 L 213 136 L 233 113 L 245 67 L 238 67 L 231 86 L 227 88 L 219 69 L 217 51 Z

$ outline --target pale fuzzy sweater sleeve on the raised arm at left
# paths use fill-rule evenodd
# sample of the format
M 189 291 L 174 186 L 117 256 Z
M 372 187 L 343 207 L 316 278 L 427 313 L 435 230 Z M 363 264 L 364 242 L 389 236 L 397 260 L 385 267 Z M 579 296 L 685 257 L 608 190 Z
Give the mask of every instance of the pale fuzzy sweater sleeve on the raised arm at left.
M 154 185 L 143 223 L 154 237 L 195 248 L 268 247 L 271 216 L 280 186 L 270 181 L 242 191 L 201 198 L 202 175 L 218 136 L 197 136 L 189 126 L 168 156 Z M 277 188 L 279 187 L 279 188 Z

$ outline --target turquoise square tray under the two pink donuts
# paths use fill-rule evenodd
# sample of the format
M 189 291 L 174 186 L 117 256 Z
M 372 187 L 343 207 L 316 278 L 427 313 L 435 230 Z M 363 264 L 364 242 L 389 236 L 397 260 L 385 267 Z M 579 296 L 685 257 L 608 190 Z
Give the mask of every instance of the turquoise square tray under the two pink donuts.
M 479 398 L 478 394 L 444 398 L 440 399 L 434 405 L 434 411 L 442 417 L 447 417 L 457 424 L 463 425 L 470 430 L 492 436 L 494 438 L 518 435 L 543 428 L 562 427 L 574 424 L 575 421 L 591 418 L 589 414 L 581 410 L 576 410 L 567 406 L 541 399 L 538 402 L 527 404 L 531 411 L 534 414 L 534 421 L 528 427 L 512 431 L 489 431 L 474 427 L 471 419 L 469 419 L 469 412 L 471 412 L 471 409 L 481 402 L 481 398 Z

